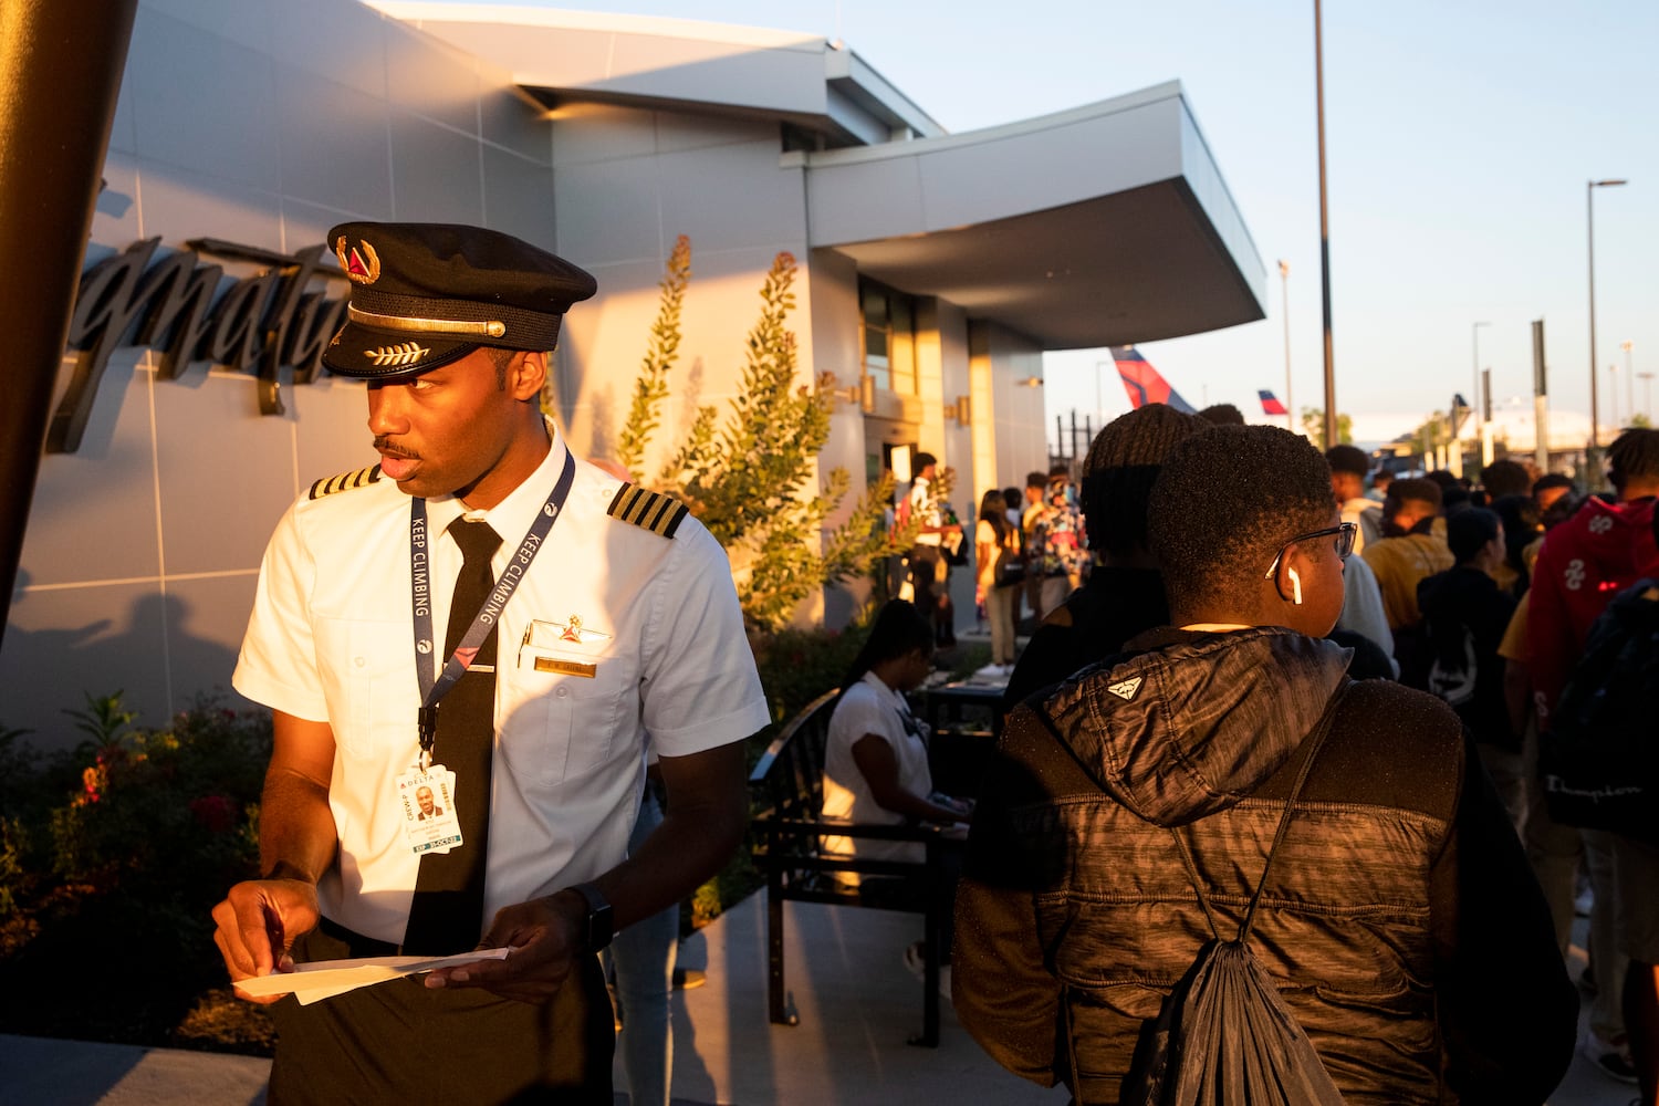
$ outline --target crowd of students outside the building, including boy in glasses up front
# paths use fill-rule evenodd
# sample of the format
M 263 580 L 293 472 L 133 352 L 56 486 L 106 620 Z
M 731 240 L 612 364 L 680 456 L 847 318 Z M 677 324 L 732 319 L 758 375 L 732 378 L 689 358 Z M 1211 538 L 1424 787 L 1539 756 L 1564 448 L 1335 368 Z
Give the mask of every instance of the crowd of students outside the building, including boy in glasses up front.
M 1100 433 L 1080 484 L 1062 468 L 1022 507 L 982 497 L 975 600 L 1012 713 L 954 980 L 1010 1070 L 1117 1101 L 1216 934 L 1199 902 L 1243 905 L 1294 794 L 1302 842 L 1256 934 L 1347 1101 L 1541 1103 L 1578 1040 L 1588 882 L 1581 1046 L 1659 1104 L 1659 851 L 1551 821 L 1538 771 L 1596 617 L 1659 577 L 1659 431 L 1613 443 L 1611 492 L 1506 459 L 1477 481 L 1369 468 L 1150 405 Z M 1022 605 L 1039 623 L 1015 657 Z M 1294 793 L 1316 720 L 1331 738 Z

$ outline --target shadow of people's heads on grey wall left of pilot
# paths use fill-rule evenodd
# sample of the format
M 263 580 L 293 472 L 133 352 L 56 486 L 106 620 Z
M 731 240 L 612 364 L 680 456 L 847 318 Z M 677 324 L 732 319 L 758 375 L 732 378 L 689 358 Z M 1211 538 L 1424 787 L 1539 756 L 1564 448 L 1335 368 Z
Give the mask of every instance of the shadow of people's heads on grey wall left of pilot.
M 231 691 L 236 650 L 189 630 L 191 605 L 159 590 L 133 599 L 124 617 L 93 617 L 78 625 L 75 612 L 86 595 L 116 589 L 28 592 L 27 570 L 18 572 L 12 622 L 0 647 L 0 728 L 27 730 L 38 749 L 66 749 L 85 740 L 65 711 L 83 710 L 88 695 L 121 691 L 138 725 L 159 728 L 199 693 L 217 693 L 226 706 L 247 708 Z M 151 585 L 154 587 L 154 585 Z M 46 597 L 65 599 L 53 612 L 70 628 L 25 628 L 45 622 Z M 65 617 L 68 615 L 68 617 Z M 85 617 L 85 615 L 81 615 Z

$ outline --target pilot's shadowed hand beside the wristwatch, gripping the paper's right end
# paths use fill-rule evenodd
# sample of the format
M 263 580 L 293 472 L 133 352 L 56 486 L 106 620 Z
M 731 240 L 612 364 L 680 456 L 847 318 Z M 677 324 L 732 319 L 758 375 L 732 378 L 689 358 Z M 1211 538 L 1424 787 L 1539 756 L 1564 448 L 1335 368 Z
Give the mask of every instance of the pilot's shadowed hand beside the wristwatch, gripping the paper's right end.
M 587 900 L 574 890 L 503 907 L 479 948 L 511 948 L 506 960 L 481 960 L 426 973 L 426 987 L 481 987 L 503 998 L 552 998 L 581 955 Z

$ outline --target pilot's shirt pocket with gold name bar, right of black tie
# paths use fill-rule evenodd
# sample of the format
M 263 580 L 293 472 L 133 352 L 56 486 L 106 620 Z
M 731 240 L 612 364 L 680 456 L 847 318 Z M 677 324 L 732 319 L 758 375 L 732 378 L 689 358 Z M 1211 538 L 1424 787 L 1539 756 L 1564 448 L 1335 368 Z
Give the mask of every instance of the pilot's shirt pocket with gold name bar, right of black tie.
M 627 658 L 524 648 L 496 678 L 499 749 L 524 786 L 579 779 L 625 746 L 619 735 L 635 685 Z

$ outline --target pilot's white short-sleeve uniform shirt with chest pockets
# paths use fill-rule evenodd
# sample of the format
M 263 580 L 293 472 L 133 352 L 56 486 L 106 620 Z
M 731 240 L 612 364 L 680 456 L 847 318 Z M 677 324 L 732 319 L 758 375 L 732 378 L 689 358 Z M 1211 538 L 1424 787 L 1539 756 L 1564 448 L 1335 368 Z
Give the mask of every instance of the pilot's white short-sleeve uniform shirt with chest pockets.
M 566 453 L 554 433 L 529 479 L 469 514 L 501 534 L 498 577 Z M 725 551 L 692 517 L 672 539 L 611 517 L 620 486 L 576 463 L 566 506 L 498 623 L 481 924 L 622 861 L 647 733 L 662 756 L 685 756 L 770 721 Z M 461 567 L 445 527 L 463 511 L 450 496 L 426 501 L 440 647 Z M 299 499 L 265 551 L 232 678 L 254 701 L 332 726 L 340 851 L 319 897 L 327 917 L 392 943 L 403 940 L 420 866 L 395 786 L 420 751 L 411 572 L 410 497 L 393 481 Z M 569 675 L 587 665 L 592 677 Z

